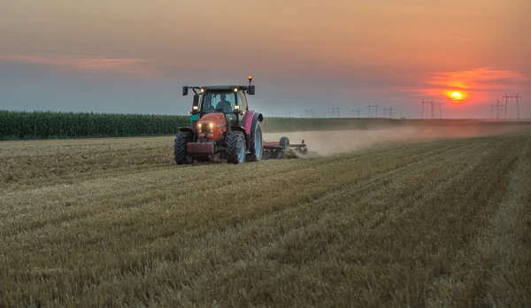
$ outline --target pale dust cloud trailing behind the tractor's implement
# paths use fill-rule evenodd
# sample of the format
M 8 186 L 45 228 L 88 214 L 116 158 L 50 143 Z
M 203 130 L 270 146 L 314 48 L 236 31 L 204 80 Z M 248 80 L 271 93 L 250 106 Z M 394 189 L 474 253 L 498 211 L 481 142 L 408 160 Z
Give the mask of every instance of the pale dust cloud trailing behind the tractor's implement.
M 506 135 L 531 131 L 530 126 L 438 126 L 438 127 L 384 127 L 375 129 L 349 129 L 327 131 L 298 131 L 286 133 L 264 133 L 266 141 L 280 140 L 287 136 L 290 143 L 304 140 L 310 152 L 319 156 L 330 156 L 378 145 L 400 142 L 424 142 L 440 139 Z

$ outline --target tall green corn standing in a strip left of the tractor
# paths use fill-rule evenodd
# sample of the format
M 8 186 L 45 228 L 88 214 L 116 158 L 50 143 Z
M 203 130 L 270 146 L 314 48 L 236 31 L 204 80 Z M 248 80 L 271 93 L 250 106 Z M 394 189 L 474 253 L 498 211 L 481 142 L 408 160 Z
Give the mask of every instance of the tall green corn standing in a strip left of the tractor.
M 173 135 L 186 116 L 0 111 L 0 140 Z

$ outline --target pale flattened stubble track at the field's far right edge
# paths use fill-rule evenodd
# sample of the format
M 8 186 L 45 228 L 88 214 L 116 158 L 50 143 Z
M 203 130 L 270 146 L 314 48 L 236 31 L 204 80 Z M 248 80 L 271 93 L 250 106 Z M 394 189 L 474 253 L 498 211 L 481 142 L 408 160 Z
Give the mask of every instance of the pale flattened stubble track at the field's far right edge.
M 497 204 L 489 225 L 472 247 L 459 251 L 452 273 L 432 281 L 428 306 L 464 304 L 466 299 L 492 307 L 531 303 L 526 287 L 515 285 L 515 281 L 506 276 L 506 273 L 518 272 L 521 266 L 526 266 L 520 260 L 529 253 L 515 235 L 513 226 L 525 206 L 522 183 L 531 173 L 531 164 L 526 162 L 530 142 L 527 137 L 521 146 L 519 158 L 509 173 L 507 191 Z

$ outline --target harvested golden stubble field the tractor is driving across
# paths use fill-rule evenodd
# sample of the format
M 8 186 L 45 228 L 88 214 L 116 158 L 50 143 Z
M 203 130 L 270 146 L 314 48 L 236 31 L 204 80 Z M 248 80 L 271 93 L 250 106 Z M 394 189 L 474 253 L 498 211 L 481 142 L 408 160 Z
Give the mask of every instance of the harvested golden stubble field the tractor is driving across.
M 293 132 L 320 156 L 242 166 L 0 142 L 0 306 L 530 306 L 530 132 Z

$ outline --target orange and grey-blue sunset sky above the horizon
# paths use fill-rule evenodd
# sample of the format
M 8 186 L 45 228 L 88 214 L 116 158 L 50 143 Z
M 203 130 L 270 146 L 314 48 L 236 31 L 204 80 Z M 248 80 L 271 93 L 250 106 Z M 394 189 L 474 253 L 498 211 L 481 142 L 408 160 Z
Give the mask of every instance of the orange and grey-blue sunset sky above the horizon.
M 0 109 L 184 114 L 183 85 L 252 74 L 265 115 L 378 104 L 419 118 L 433 100 L 445 118 L 490 118 L 519 94 L 531 118 L 529 13 L 528 0 L 4 0 Z

